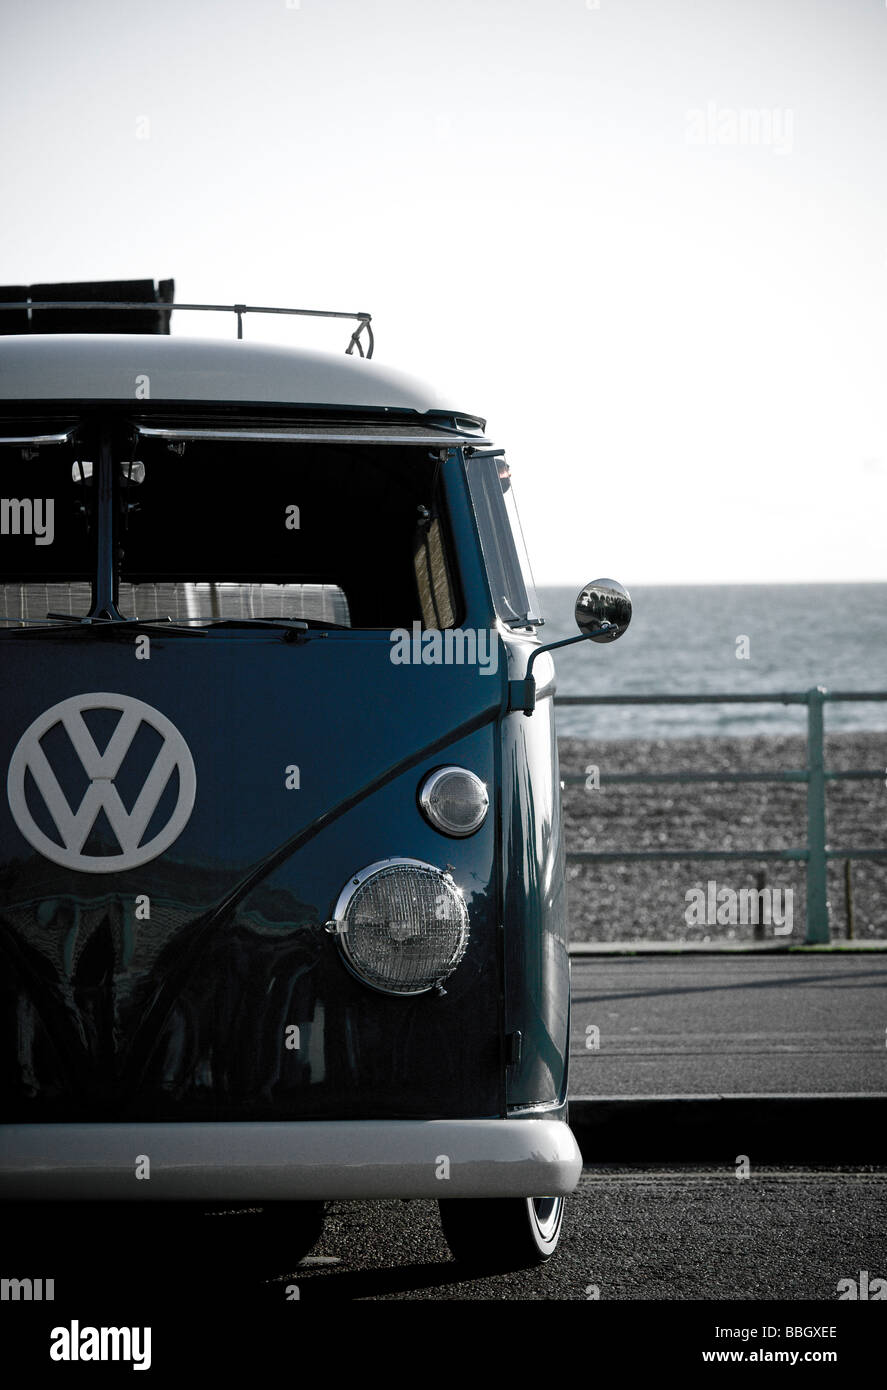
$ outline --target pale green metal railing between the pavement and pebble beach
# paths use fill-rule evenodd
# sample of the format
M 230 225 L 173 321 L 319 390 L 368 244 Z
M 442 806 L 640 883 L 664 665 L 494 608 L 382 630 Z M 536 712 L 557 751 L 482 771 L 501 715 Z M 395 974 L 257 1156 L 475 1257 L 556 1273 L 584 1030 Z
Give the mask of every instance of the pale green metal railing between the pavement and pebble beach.
M 806 865 L 806 944 L 830 941 L 829 859 L 887 859 L 887 849 L 830 849 L 826 841 L 826 783 L 886 776 L 883 767 L 827 771 L 823 752 L 823 708 L 829 701 L 887 701 L 887 691 L 809 691 L 754 695 L 558 695 L 555 705 L 806 705 L 806 767 L 773 773 L 612 773 L 608 783 L 806 783 L 806 847 L 798 849 L 620 849 L 569 851 L 567 863 L 613 863 L 630 859 L 781 859 Z M 562 778 L 584 784 L 583 774 Z

